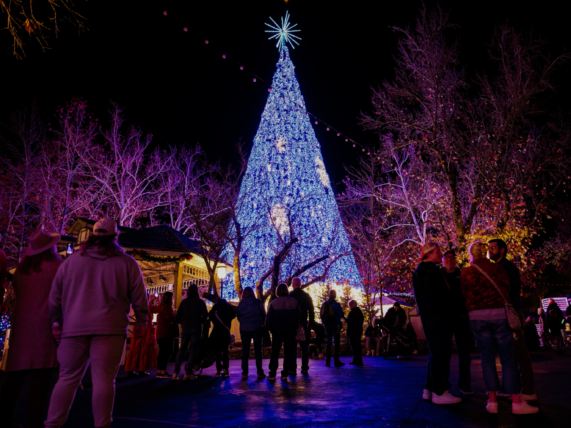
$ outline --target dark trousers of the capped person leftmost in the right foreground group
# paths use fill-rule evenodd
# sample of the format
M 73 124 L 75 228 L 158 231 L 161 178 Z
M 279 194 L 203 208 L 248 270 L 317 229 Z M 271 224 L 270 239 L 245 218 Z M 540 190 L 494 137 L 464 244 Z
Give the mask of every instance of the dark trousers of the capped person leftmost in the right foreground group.
M 452 320 L 445 314 L 421 314 L 420 321 L 430 351 L 424 388 L 442 395 L 452 386 L 448 380 L 452 357 Z

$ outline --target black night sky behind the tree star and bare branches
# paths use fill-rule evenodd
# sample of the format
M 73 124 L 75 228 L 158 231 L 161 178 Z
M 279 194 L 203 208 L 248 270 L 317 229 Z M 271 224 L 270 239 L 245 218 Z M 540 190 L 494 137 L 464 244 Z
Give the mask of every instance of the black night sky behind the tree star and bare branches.
M 506 19 L 518 29 L 541 34 L 554 54 L 571 46 L 561 2 L 541 2 L 541 7 L 515 1 L 459 3 L 441 4 L 451 8 L 460 26 L 461 60 L 471 78 L 477 71 L 493 70 L 485 43 L 494 24 Z M 370 86 L 393 77 L 397 34 L 389 26 L 413 22 L 421 6 L 420 1 L 302 0 L 287 5 L 283 0 L 76 4 L 89 31 L 78 36 L 74 27 L 61 25 L 46 53 L 29 41 L 26 58 L 17 60 L 2 31 L 0 122 L 7 122 L 11 108 L 32 99 L 53 120 L 57 107 L 75 97 L 88 100 L 106 124 L 113 100 L 125 107 L 128 123 L 154 135 L 154 144 L 200 143 L 208 158 L 223 161 L 232 159 L 240 138 L 251 147 L 266 103 L 267 85 L 260 79 L 252 82 L 252 74 L 271 83 L 275 71 L 278 50 L 264 33 L 268 17 L 279 22 L 289 10 L 301 30 L 297 34 L 303 40 L 290 53 L 308 110 L 367 145 L 377 139 L 361 130 L 358 116 L 371 110 Z M 428 7 L 435 4 L 427 2 Z M 569 71 L 568 64 L 558 72 L 558 82 L 566 86 L 558 88 L 554 104 L 571 93 Z M 343 165 L 355 163 L 360 149 L 323 124 L 314 128 L 327 171 L 339 183 Z

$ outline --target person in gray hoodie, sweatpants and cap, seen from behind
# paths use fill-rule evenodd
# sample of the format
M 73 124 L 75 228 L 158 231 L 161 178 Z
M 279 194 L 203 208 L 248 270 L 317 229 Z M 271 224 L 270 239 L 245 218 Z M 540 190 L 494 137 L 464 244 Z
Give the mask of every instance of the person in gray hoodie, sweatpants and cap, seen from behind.
M 67 257 L 55 274 L 49 316 L 59 344 L 59 379 L 51 394 L 46 427 L 61 427 L 66 422 L 90 363 L 95 426 L 110 426 L 115 376 L 131 307 L 136 319 L 133 335 L 140 337 L 146 331 L 148 304 L 143 275 L 116 238 L 115 221 L 99 220 L 81 251 Z

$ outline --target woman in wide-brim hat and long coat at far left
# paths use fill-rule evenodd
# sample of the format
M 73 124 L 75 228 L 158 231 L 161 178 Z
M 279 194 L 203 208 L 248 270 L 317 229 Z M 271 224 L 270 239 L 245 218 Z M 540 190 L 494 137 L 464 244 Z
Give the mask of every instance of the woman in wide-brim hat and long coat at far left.
M 55 247 L 60 239 L 58 233 L 43 230 L 32 233 L 30 245 L 14 273 L 12 286 L 16 302 L 12 311 L 7 375 L 0 399 L 0 414 L 6 426 L 14 425 L 19 392 L 27 375 L 31 375 L 27 426 L 43 427 L 43 409 L 54 368 L 58 366 L 48 299 L 51 282 L 63 263 Z

